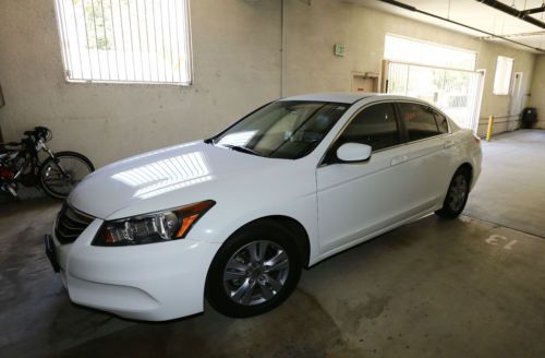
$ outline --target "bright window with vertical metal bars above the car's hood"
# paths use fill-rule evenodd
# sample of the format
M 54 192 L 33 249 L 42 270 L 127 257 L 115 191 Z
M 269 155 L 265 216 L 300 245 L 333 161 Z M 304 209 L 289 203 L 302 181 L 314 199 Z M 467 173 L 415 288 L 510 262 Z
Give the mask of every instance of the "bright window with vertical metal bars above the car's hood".
M 191 84 L 189 0 L 56 0 L 70 82 Z

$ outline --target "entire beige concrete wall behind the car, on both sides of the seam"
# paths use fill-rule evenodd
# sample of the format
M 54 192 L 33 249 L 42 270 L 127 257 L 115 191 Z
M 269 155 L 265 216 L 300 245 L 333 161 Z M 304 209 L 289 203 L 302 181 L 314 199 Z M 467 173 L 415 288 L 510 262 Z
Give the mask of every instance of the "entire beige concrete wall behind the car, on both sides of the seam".
M 498 55 L 514 58 L 524 93 L 534 68 L 532 53 L 409 19 L 339 0 L 286 0 L 282 88 L 280 0 L 193 0 L 191 87 L 74 84 L 63 79 L 53 1 L 0 0 L 0 126 L 16 140 L 45 124 L 55 150 L 81 151 L 99 166 L 213 134 L 281 93 L 350 91 L 352 72 L 380 72 L 386 33 L 479 51 L 483 118 L 509 112 L 508 97 L 492 95 Z M 332 55 L 336 43 L 344 58 Z

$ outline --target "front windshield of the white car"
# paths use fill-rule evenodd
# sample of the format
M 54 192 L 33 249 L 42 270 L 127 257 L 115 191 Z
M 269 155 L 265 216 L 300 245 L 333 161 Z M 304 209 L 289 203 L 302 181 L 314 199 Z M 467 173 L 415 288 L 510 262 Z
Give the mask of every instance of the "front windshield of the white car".
M 211 142 L 265 157 L 301 158 L 322 142 L 349 106 L 327 102 L 275 102 L 249 115 Z

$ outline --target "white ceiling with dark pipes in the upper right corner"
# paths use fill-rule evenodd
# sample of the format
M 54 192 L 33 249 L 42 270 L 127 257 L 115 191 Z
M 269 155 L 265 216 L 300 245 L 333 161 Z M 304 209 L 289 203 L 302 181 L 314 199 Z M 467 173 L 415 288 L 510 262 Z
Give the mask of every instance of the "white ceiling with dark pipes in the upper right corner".
M 532 50 L 510 43 L 505 39 L 493 37 L 481 32 L 465 28 L 439 19 L 404 10 L 378 0 L 347 0 L 367 8 L 378 9 L 400 16 L 411 17 L 421 22 L 446 27 L 479 38 L 491 41 L 501 43 L 520 49 L 525 49 L 536 53 L 545 52 L 545 28 L 533 25 L 526 21 L 509 15 L 505 12 L 491 8 L 476 0 L 398 0 L 404 4 L 416 8 L 420 11 L 432 13 L 441 17 L 465 24 L 484 32 L 507 37 L 517 43 L 521 43 L 541 50 Z M 513 7 L 519 11 L 540 8 L 544 0 L 500 0 L 500 2 Z M 536 20 L 545 22 L 545 13 L 535 13 L 531 15 Z

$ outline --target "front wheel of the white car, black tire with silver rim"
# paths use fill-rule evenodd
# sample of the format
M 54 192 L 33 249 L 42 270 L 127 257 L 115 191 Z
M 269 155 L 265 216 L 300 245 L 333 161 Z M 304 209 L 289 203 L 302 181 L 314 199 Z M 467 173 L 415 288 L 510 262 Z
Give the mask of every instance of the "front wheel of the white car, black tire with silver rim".
M 225 315 L 258 315 L 293 293 L 301 266 L 292 234 L 275 222 L 256 222 L 234 232 L 219 249 L 208 271 L 205 295 Z

